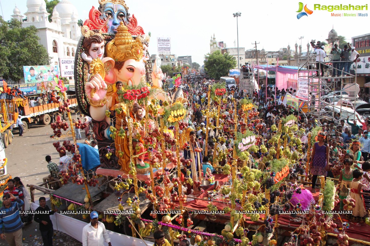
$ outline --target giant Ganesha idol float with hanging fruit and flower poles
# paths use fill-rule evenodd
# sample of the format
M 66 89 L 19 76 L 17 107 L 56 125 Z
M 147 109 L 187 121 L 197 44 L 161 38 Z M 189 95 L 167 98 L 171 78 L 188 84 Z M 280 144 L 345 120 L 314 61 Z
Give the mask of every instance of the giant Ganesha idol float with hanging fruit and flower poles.
M 53 205 L 63 201 L 68 210 L 98 211 L 108 229 L 142 240 L 162 230 L 172 245 L 186 238 L 199 246 L 313 246 L 330 238 L 340 246 L 366 244 L 358 239 L 366 233 L 341 216 L 325 214 L 338 203 L 333 181 L 322 177 L 316 201 L 300 202 L 309 173 L 304 154 L 309 159 L 311 141 L 302 145 L 296 117 L 272 125 L 273 136 L 264 142 L 254 131 L 264 126 L 250 100 L 232 100 L 229 116 L 225 114 L 228 102 L 221 83 L 209 86 L 208 106 L 202 111 L 207 116 L 205 142 L 211 142 L 204 153 L 217 171 L 203 171 L 202 149 L 194 142 L 194 131 L 201 128 L 189 124 L 182 90 L 169 95 L 162 89 L 160 60 L 152 67 L 149 58 L 149 36 L 125 1 L 99 4 L 81 22 L 75 57 L 76 97 L 80 111 L 92 118 L 98 157 L 94 163 L 88 163 L 89 157 L 84 161 L 88 150 L 77 145 L 73 129 L 84 125 L 74 122 L 70 112 L 69 122 L 60 119 L 52 125 L 55 148 L 73 155 L 61 173 L 61 188 L 44 190 Z M 181 77 L 174 83 L 179 86 Z M 215 132 L 212 139 L 210 131 Z M 214 144 L 227 139 L 233 141 L 230 148 Z M 251 154 L 256 152 L 262 156 L 254 162 Z M 300 181 L 289 181 L 293 168 L 303 175 Z M 353 207 L 350 197 L 345 202 L 347 209 Z M 202 221 L 206 229 L 196 230 Z

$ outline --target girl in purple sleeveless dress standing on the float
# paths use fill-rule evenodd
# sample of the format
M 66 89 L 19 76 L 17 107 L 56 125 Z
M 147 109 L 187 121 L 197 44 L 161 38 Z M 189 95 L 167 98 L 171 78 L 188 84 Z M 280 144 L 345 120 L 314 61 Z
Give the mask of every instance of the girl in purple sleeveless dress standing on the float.
M 329 145 L 327 144 L 326 134 L 320 132 L 317 134 L 317 140 L 313 145 L 310 173 L 312 174 L 312 193 L 316 193 L 315 185 L 317 176 L 327 176 L 329 169 Z

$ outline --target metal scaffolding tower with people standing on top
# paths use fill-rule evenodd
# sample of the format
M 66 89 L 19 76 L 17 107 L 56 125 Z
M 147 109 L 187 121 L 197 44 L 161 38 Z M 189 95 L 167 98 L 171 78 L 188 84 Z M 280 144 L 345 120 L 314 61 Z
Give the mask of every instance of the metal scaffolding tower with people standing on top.
M 339 123 L 341 119 L 356 119 L 354 116 L 355 110 L 347 111 L 341 105 L 335 105 L 336 101 L 332 100 L 339 97 L 339 101 L 343 101 L 349 97 L 343 96 L 349 90 L 355 90 L 357 87 L 357 69 L 354 67 L 355 73 L 350 74 L 341 71 L 341 76 L 338 76 L 339 69 L 327 65 L 327 63 L 334 63 L 331 60 L 331 55 L 326 55 L 326 62 L 319 63 L 319 70 L 316 69 L 316 53 L 313 51 L 306 53 L 306 56 L 300 56 L 298 59 L 299 69 L 298 78 L 308 80 L 308 101 L 303 104 L 303 108 L 307 107 L 307 112 L 300 110 L 300 114 L 305 115 L 307 118 L 314 118 L 317 123 L 321 125 L 323 119 L 333 120 Z M 350 64 L 352 66 L 352 64 Z M 321 67 L 324 66 L 324 76 L 321 75 Z M 357 66 L 357 64 L 356 64 Z M 352 69 L 350 67 L 349 69 Z M 336 70 L 336 76 L 333 71 Z M 335 93 L 334 93 L 335 91 Z M 333 98 L 324 97 L 327 94 L 333 94 Z M 356 109 L 356 97 L 354 99 L 354 108 Z M 339 112 L 340 116 L 336 117 Z M 357 120 L 357 119 L 356 119 Z

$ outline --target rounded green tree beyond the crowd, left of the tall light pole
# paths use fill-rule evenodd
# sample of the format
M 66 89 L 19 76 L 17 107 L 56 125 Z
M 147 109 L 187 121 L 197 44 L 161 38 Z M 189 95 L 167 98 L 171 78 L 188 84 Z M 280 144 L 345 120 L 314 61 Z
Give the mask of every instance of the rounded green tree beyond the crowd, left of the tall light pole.
M 212 54 L 208 53 L 204 58 L 204 69 L 214 79 L 227 76 L 229 70 L 235 68 L 237 64 L 232 55 L 228 53 L 222 55 L 221 51 L 215 51 Z

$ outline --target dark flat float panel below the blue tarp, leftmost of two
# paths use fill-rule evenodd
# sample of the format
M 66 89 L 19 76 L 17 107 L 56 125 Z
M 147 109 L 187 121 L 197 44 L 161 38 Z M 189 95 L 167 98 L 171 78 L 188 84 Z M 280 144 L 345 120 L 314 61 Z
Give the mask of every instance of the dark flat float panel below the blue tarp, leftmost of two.
M 102 179 L 98 180 L 99 183 L 101 183 Z M 101 187 L 89 186 L 91 197 L 99 195 L 100 193 L 102 193 L 102 191 L 105 190 L 105 188 L 105 185 Z M 68 184 L 66 184 L 65 186 L 62 186 L 58 190 L 53 191 L 53 194 L 83 204 L 86 196 L 86 190 L 84 185 L 68 182 Z

